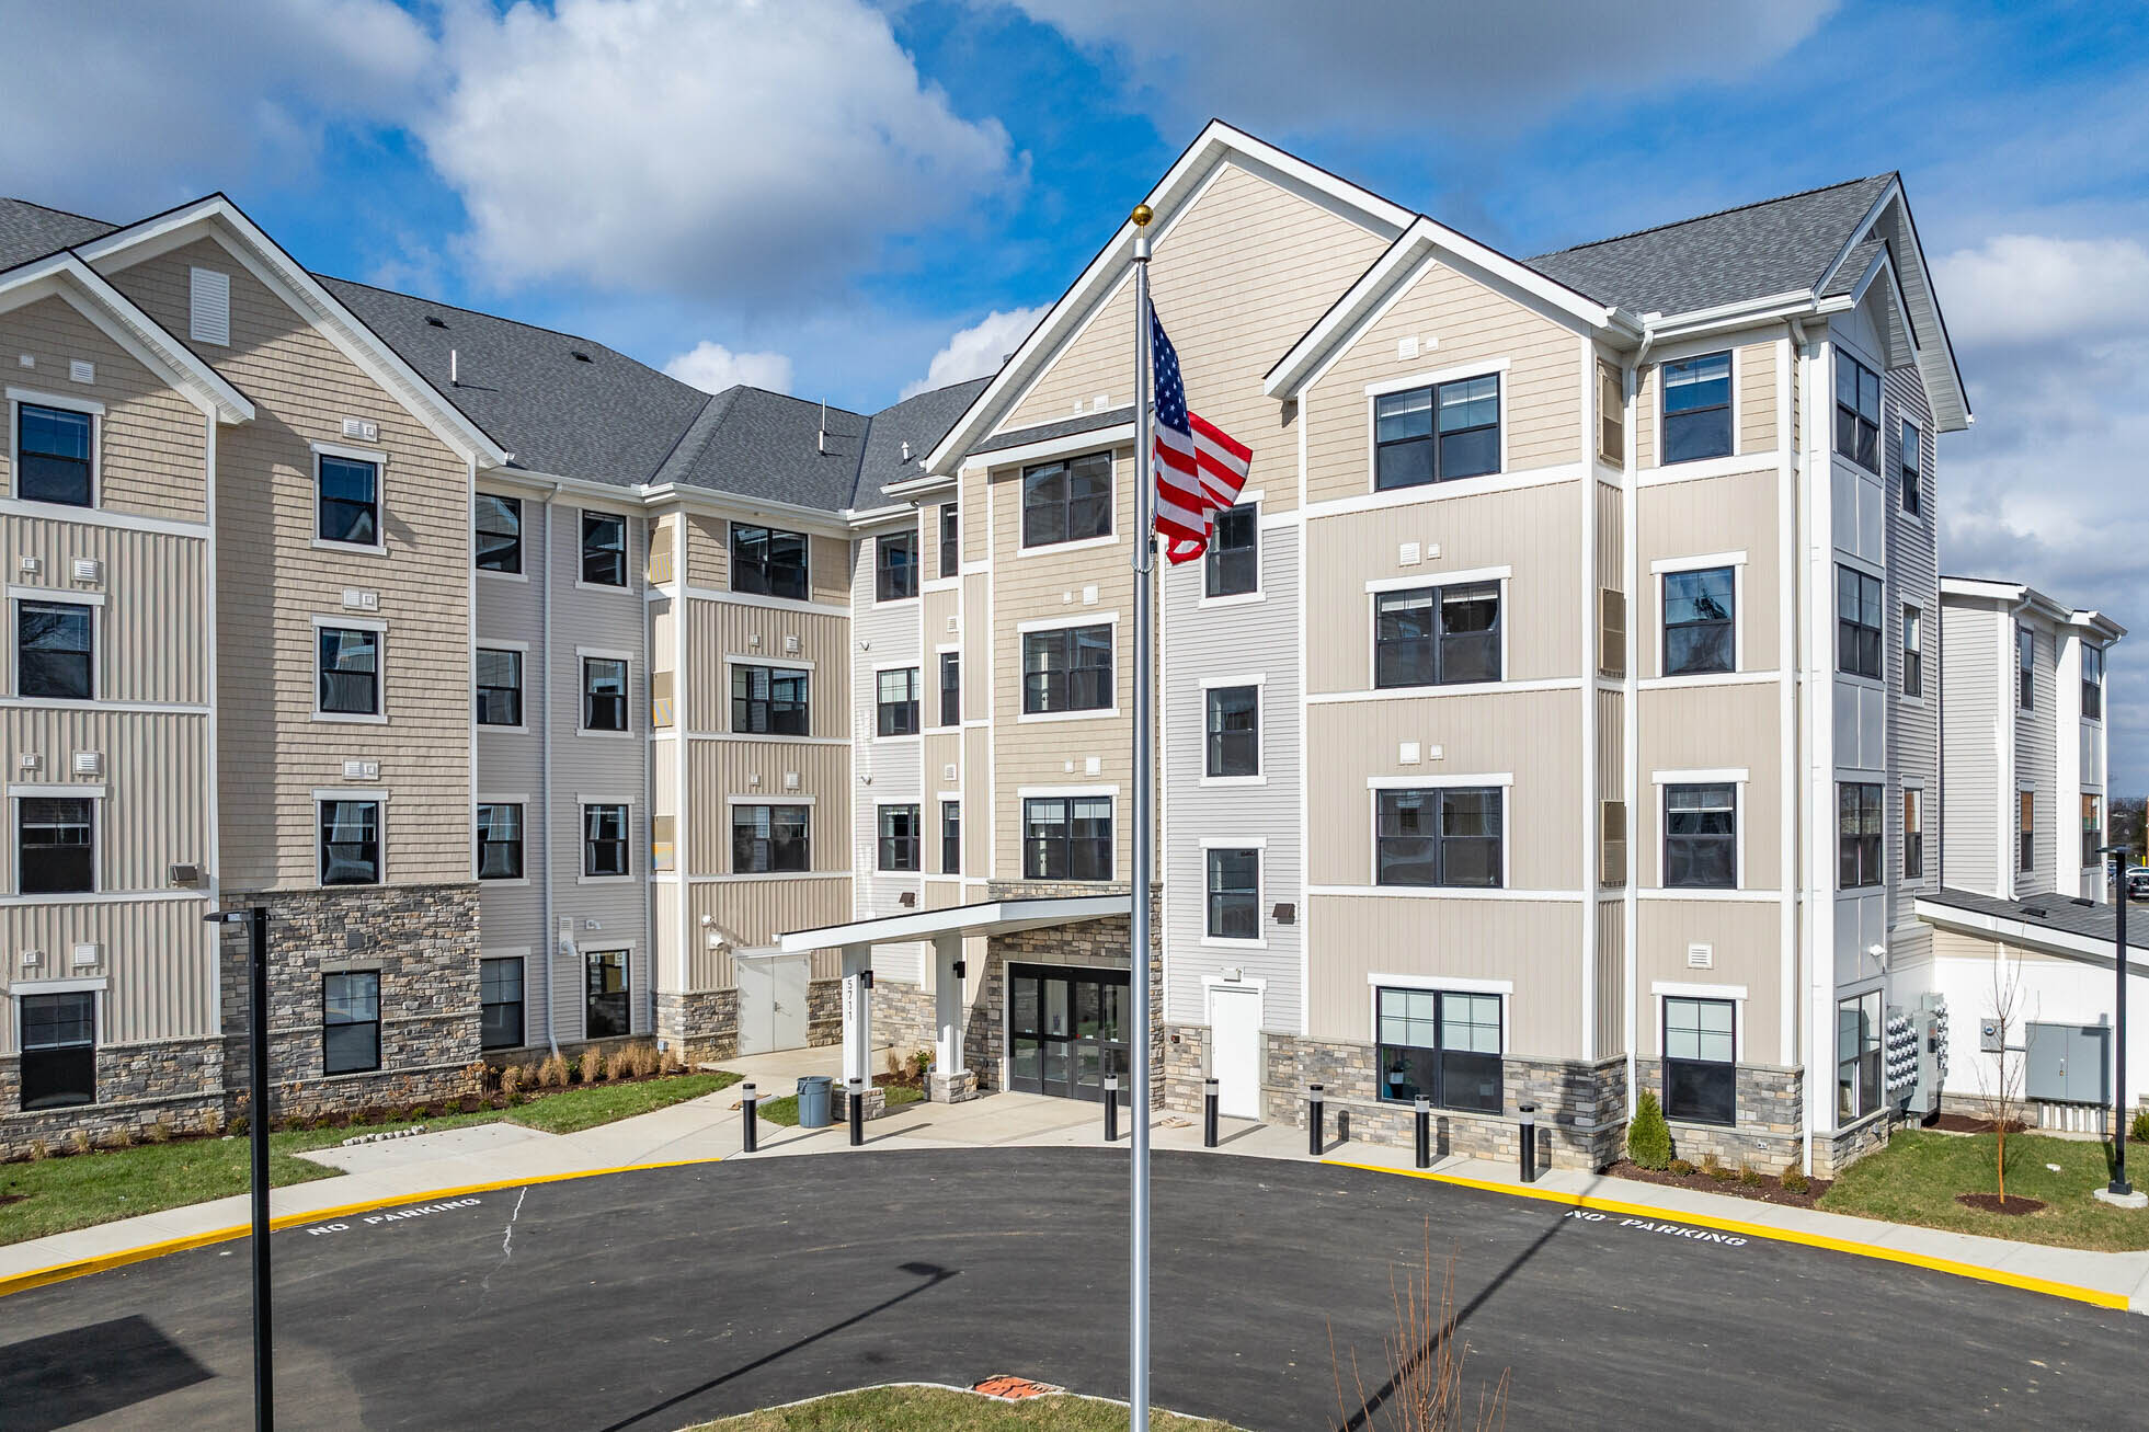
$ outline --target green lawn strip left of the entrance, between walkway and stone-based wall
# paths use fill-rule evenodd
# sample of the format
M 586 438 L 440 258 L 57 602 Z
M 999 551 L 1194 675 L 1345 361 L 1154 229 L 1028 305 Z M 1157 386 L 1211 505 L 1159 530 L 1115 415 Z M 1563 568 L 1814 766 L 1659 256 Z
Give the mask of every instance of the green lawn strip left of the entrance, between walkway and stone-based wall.
M 443 1114 L 417 1120 L 428 1131 L 490 1125 L 499 1120 L 574 1133 L 617 1118 L 662 1109 L 681 1099 L 713 1094 L 739 1082 L 735 1073 L 692 1073 L 640 1084 L 591 1084 L 533 1097 L 514 1109 L 477 1109 L 475 1114 Z M 314 1178 L 335 1178 L 333 1168 L 297 1159 L 312 1148 L 331 1148 L 359 1133 L 408 1129 L 410 1120 L 350 1129 L 292 1129 L 269 1135 L 269 1183 L 284 1187 Z M 200 1204 L 247 1191 L 247 1140 L 176 1140 L 142 1144 L 37 1163 L 0 1163 L 0 1198 L 26 1195 L 21 1202 L 0 1202 L 0 1245 L 43 1238 L 45 1234 L 110 1223 L 138 1213 Z

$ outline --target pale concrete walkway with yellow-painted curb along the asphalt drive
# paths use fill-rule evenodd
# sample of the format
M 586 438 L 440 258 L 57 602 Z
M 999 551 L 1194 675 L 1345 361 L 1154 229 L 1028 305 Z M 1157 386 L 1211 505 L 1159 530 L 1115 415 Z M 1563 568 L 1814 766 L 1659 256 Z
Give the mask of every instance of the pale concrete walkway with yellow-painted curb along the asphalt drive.
M 836 1073 L 836 1058 L 834 1049 L 799 1049 L 733 1060 L 726 1069 L 746 1073 L 763 1097 L 774 1099 L 791 1092 L 802 1073 Z M 1126 1148 L 1126 1118 L 1128 1114 L 1122 1109 L 1117 1148 Z M 316 1150 L 307 1157 L 340 1168 L 344 1174 L 275 1189 L 271 1215 L 277 1228 L 288 1228 L 359 1208 L 428 1202 L 481 1189 L 630 1168 L 851 1152 L 849 1131 L 842 1125 L 784 1129 L 763 1122 L 761 1148 L 754 1155 L 741 1155 L 739 1140 L 737 1088 L 567 1135 L 539 1133 L 518 1125 L 443 1129 L 378 1144 Z M 1156 1148 L 1199 1150 L 1201 1125 L 1195 1118 L 1158 1114 L 1152 1120 L 1152 1144 Z M 1102 1105 L 999 1092 L 956 1105 L 911 1103 L 866 1125 L 868 1150 L 993 1146 L 1105 1148 Z M 1223 1122 L 1216 1152 L 1313 1161 L 1307 1152 L 1304 1131 L 1244 1120 Z M 2091 1254 L 1979 1238 L 1607 1178 L 1584 1170 L 1547 1170 L 1534 1185 L 1524 1185 L 1506 1163 L 1451 1157 L 1418 1172 L 1410 1168 L 1408 1148 L 1371 1144 L 1332 1144 L 1324 1152 L 1324 1161 L 1403 1178 L 1436 1178 L 1496 1189 L 1603 1217 L 1633 1217 L 1829 1247 L 2035 1288 L 2106 1307 L 2149 1312 L 2149 1251 Z M 234 1195 L 0 1247 L 0 1294 L 120 1262 L 155 1258 L 178 1247 L 243 1236 L 245 1223 L 247 1200 Z

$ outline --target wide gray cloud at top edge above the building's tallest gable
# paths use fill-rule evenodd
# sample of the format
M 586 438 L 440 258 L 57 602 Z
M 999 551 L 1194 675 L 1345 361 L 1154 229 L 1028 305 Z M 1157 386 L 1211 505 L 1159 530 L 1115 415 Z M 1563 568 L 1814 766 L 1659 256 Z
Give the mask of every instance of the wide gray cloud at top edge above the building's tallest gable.
M 1665 80 L 1739 80 L 1803 41 L 1835 0 L 973 0 L 1012 4 L 1126 75 L 1169 129 L 1494 129 Z

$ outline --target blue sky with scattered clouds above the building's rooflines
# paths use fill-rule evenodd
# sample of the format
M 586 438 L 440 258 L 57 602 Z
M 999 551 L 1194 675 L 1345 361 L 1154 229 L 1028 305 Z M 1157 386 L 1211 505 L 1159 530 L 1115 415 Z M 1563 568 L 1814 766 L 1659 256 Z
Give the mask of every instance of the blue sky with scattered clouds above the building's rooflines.
M 1943 568 L 2149 651 L 2149 9 L 0 0 L 9 194 L 879 406 L 1014 346 L 1208 116 L 1517 256 L 1902 170 L 1977 426 Z M 95 77 L 86 103 L 84 77 Z M 2149 787 L 2149 658 L 2112 662 Z

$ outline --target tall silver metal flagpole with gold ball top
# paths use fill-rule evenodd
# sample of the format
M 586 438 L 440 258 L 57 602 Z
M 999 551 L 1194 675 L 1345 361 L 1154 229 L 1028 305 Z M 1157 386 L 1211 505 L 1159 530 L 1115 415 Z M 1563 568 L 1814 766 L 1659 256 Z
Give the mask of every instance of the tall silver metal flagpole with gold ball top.
M 1135 219 L 1135 903 L 1130 912 L 1128 972 L 1135 993 L 1133 1084 L 1135 1146 L 1128 1195 L 1128 1413 L 1130 1432 L 1150 1432 L 1150 864 L 1156 817 L 1152 813 L 1150 710 L 1156 600 L 1156 475 L 1150 471 L 1150 206 Z M 1111 1094 L 1107 1094 L 1109 1099 Z

